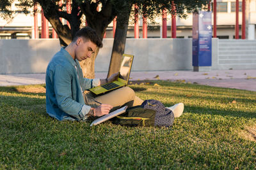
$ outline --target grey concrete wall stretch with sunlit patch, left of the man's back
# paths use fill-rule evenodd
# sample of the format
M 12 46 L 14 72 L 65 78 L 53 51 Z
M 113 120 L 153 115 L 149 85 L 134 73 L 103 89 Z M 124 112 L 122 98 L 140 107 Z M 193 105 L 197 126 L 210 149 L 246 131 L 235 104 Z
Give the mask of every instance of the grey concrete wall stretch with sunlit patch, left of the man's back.
M 58 50 L 58 39 L 0 39 L 0 74 L 45 73 Z

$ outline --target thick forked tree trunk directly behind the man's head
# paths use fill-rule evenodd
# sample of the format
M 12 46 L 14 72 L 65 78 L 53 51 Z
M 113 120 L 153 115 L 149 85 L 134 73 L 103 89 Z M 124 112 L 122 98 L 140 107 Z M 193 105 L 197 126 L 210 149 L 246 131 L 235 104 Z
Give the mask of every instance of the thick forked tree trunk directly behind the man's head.
M 51 23 L 54 30 L 57 32 L 60 45 L 67 46 L 71 43 L 72 37 L 79 30 L 79 26 L 81 24 L 81 14 L 79 14 L 78 4 L 76 1 L 72 3 L 72 12 L 68 14 L 67 12 L 58 11 L 56 4 L 52 3 L 52 1 L 38 1 L 40 5 L 44 8 L 45 17 Z M 51 7 L 49 10 L 47 7 Z M 109 23 L 116 16 L 115 11 L 112 9 L 111 1 L 108 1 L 102 11 L 97 12 L 97 3 L 84 3 L 84 5 L 80 6 L 82 13 L 84 13 L 87 17 L 88 26 L 95 29 L 97 34 L 102 39 L 104 36 L 104 32 L 108 27 Z M 63 25 L 60 22 L 60 17 L 65 18 L 70 22 L 71 29 L 68 28 L 67 25 Z M 99 48 L 96 49 L 94 55 L 90 59 L 83 60 L 80 63 L 83 75 L 86 78 L 94 78 L 95 73 L 95 59 L 97 54 L 99 53 Z

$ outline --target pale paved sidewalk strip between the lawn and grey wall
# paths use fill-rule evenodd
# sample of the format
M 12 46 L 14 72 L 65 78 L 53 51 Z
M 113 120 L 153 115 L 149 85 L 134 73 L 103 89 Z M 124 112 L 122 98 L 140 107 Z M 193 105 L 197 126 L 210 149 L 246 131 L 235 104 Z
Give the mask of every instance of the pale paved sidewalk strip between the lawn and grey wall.
M 96 78 L 106 78 L 108 73 L 95 73 Z M 130 80 L 170 80 L 256 91 L 256 69 L 193 71 L 132 71 Z M 0 86 L 45 83 L 42 74 L 0 74 Z

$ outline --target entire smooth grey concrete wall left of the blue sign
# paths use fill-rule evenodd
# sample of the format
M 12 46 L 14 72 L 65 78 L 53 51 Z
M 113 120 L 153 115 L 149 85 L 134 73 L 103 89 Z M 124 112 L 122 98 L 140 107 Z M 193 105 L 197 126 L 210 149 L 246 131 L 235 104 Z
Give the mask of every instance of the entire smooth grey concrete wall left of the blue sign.
M 113 39 L 104 39 L 95 71 L 108 71 Z M 58 39 L 0 39 L 0 74 L 45 73 L 60 50 Z M 191 39 L 127 39 L 125 53 L 133 54 L 133 71 L 193 69 Z

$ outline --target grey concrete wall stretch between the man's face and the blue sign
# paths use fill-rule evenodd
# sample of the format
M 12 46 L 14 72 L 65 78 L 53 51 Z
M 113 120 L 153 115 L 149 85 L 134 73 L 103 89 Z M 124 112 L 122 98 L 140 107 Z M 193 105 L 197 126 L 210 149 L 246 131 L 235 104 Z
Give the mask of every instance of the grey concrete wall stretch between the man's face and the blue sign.
M 95 71 L 108 71 L 113 39 L 103 43 Z M 132 71 L 193 69 L 191 39 L 127 39 L 125 53 L 134 55 Z

